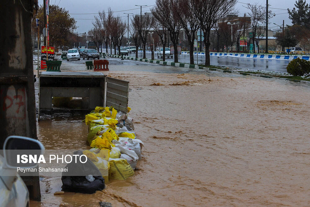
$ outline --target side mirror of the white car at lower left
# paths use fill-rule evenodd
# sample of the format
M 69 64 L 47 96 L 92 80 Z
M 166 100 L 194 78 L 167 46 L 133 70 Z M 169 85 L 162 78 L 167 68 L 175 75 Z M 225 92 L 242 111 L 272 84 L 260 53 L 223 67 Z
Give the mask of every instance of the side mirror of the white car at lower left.
M 37 167 L 38 163 L 34 160 L 39 159 L 44 152 L 45 148 L 42 143 L 29 137 L 9 136 L 3 145 L 5 164 L 11 169 Z M 27 160 L 29 158 L 28 162 L 23 159 L 23 155 L 27 156 Z M 32 161 L 30 158 L 33 158 Z

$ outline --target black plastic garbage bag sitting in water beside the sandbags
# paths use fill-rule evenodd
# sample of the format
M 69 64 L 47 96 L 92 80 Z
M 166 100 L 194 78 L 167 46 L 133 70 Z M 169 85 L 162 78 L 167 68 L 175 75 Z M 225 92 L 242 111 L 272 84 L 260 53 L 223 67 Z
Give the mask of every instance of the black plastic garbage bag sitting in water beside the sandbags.
M 83 152 L 75 151 L 73 155 L 83 155 Z M 90 160 L 87 159 L 86 163 L 82 163 L 77 159 L 77 163 L 71 162 L 66 168 L 68 172 L 63 172 L 61 176 L 63 191 L 92 194 L 104 189 L 104 178 Z M 88 175 L 94 178 L 92 182 L 86 179 Z

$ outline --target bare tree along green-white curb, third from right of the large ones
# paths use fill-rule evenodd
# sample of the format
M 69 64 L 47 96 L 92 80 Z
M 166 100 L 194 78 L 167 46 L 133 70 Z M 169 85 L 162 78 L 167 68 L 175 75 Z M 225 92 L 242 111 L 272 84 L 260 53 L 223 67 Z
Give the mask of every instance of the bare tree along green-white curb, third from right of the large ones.
M 202 0 L 201 0 L 202 1 Z M 180 18 L 178 18 L 179 1 L 178 0 L 156 0 L 156 5 L 151 9 L 153 16 L 163 25 L 170 35 L 174 48 L 174 61 L 178 60 L 178 43 L 181 29 Z

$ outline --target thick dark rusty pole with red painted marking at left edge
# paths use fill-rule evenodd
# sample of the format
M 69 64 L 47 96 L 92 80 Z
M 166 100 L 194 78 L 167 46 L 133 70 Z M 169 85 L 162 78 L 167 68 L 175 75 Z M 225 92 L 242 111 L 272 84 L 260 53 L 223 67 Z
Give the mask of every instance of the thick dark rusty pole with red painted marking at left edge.
M 5 32 L 0 32 L 0 45 L 7 48 L 0 53 L 1 149 L 10 135 L 38 139 L 31 41 L 31 21 L 35 20 L 37 10 L 37 1 L 2 1 L 0 4 L 0 28 L 5 28 Z M 22 179 L 30 198 L 40 201 L 39 173 Z

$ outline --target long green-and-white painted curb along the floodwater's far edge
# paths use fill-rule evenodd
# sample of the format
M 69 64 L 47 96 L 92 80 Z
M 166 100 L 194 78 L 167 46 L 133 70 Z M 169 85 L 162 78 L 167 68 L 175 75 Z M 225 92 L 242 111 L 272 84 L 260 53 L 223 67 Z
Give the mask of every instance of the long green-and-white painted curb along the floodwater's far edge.
M 115 57 L 115 58 L 122 58 L 122 56 L 118 56 L 118 55 L 108 55 L 108 56 L 109 57 Z M 250 76 L 262 77 L 262 78 L 283 79 L 283 80 L 288 80 L 288 81 L 292 81 L 292 82 L 303 83 L 305 85 L 309 85 L 310 86 L 310 81 L 306 81 L 306 80 L 293 80 L 293 79 L 287 79 L 287 78 L 277 78 L 277 77 L 272 77 L 272 76 L 268 76 L 268 75 L 245 73 L 245 72 L 238 72 L 238 71 L 231 71 L 231 70 L 222 70 L 222 69 L 201 67 L 201 66 L 198 66 L 198 65 L 191 65 L 191 64 L 186 64 L 186 63 L 175 63 L 175 62 L 170 62 L 170 61 L 156 61 L 156 60 L 149 60 L 149 59 L 143 59 L 143 58 L 135 58 L 135 57 L 131 57 L 131 56 L 123 56 L 123 58 L 125 60 L 148 62 L 148 63 L 158 64 L 158 65 L 168 65 L 168 66 L 175 66 L 175 67 L 181 67 L 181 68 L 195 68 L 195 69 L 203 69 L 203 70 L 209 70 L 209 71 L 217 71 L 217 72 L 220 72 L 220 73 L 250 75 Z

